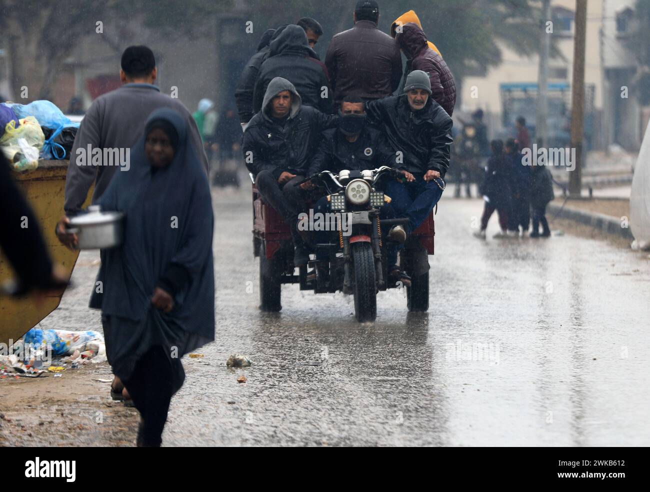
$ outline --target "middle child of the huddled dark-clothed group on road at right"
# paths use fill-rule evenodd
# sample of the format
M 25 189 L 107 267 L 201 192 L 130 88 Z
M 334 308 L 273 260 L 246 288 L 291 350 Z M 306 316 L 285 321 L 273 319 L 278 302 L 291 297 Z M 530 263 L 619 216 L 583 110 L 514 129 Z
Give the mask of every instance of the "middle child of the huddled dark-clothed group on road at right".
M 521 153 L 514 138 L 506 141 L 506 158 L 512 173 L 512 206 L 508 214 L 508 232 L 525 237 L 530 227 L 530 167 L 521 163 Z M 521 226 L 521 233 L 519 232 Z

